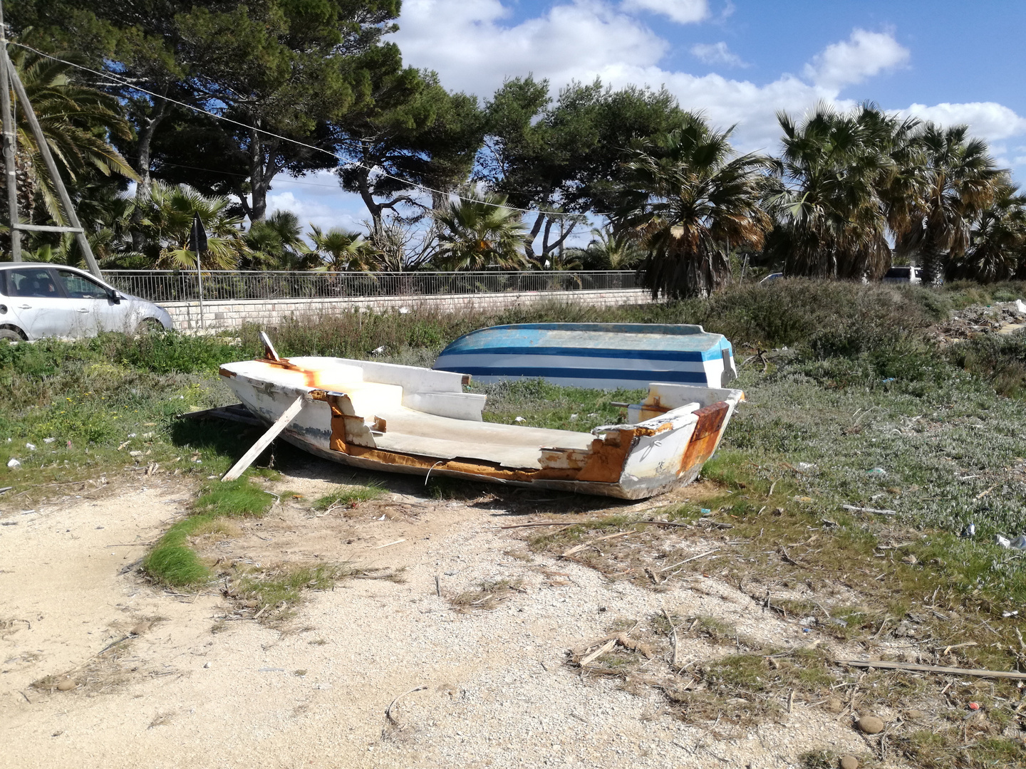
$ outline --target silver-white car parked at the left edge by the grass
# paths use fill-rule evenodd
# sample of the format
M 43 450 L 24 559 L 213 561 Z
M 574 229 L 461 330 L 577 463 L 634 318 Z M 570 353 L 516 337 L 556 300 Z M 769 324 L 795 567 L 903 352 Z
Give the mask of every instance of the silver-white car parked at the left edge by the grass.
M 135 333 L 148 327 L 170 329 L 171 316 L 88 273 L 63 265 L 0 264 L 0 340 Z

